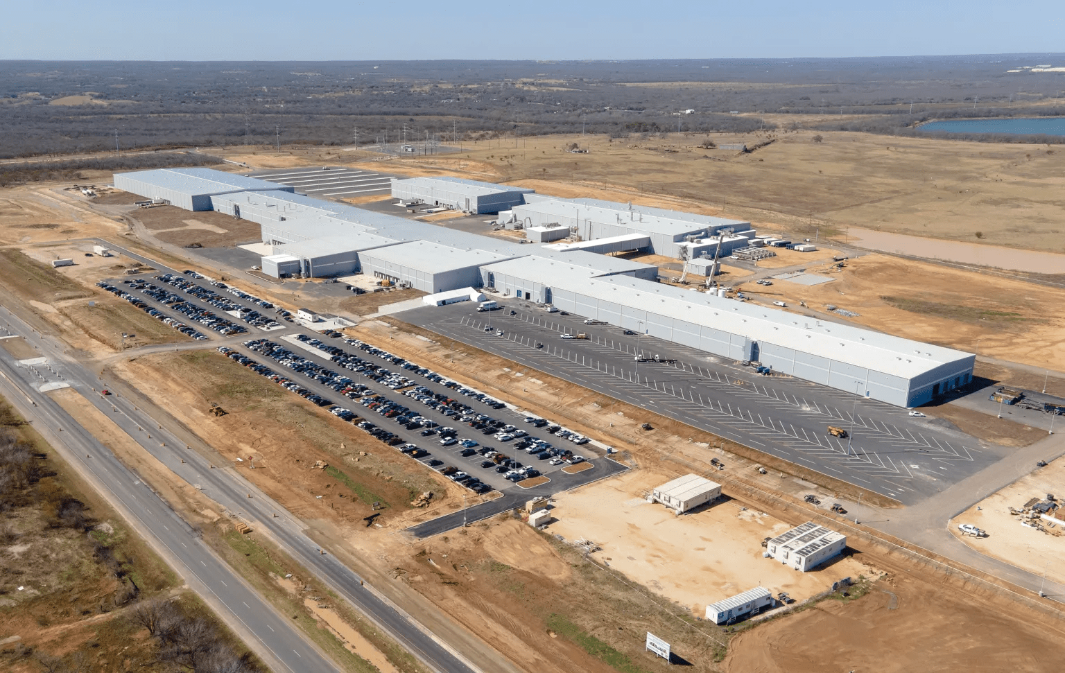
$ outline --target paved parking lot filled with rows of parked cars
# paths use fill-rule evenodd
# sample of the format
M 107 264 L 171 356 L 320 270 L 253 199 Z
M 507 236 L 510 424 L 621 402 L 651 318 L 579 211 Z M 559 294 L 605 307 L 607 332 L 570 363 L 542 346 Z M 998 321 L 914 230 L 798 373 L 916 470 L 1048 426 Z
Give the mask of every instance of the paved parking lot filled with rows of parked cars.
M 564 439 L 547 434 L 544 428 L 537 428 L 532 424 L 526 423 L 527 416 L 511 407 L 503 406 L 496 409 L 489 406 L 490 403 L 497 404 L 497 400 L 487 397 L 478 399 L 475 397 L 476 391 L 462 390 L 458 384 L 448 387 L 446 379 L 435 380 L 438 377 L 432 376 L 433 373 L 417 367 L 417 365 L 410 364 L 413 370 L 404 368 L 403 365 L 406 364 L 404 361 L 392 362 L 387 359 L 388 354 L 375 352 L 377 349 L 370 344 L 366 345 L 367 352 L 366 349 L 360 348 L 358 345 L 345 343 L 340 339 L 330 339 L 298 324 L 289 323 L 282 314 L 275 313 L 271 308 L 262 306 L 262 299 L 242 292 L 229 283 L 212 284 L 215 281 L 211 278 L 197 278 L 195 275 L 185 275 L 176 269 L 168 269 L 154 260 L 145 259 L 145 261 L 152 264 L 159 272 L 150 276 L 137 275 L 131 278 L 111 279 L 106 281 L 108 284 L 145 303 L 154 314 L 187 325 L 200 332 L 207 340 L 214 342 L 214 345 L 223 345 L 224 349 L 253 360 L 293 381 L 297 388 L 308 392 L 311 401 L 314 401 L 312 396 L 317 396 L 322 400 L 328 400 L 324 405 L 327 408 L 335 404 L 370 421 L 377 427 L 388 430 L 403 440 L 402 444 L 396 445 L 396 450 L 408 443 L 424 449 L 426 455 L 417 458 L 417 461 L 425 465 L 424 469 L 442 471 L 444 467 L 454 466 L 477 477 L 484 483 L 489 485 L 491 489 L 502 493 L 502 497 L 470 508 L 465 513 L 460 510 L 439 520 L 421 524 L 413 530 L 415 535 L 436 535 L 461 526 L 463 520 L 472 522 L 492 516 L 515 507 L 515 503 L 524 504 L 525 500 L 534 496 L 559 493 L 627 470 L 625 465 L 601 456 L 602 452 L 592 449 L 588 444 L 576 445 Z M 168 274 L 170 275 L 168 279 L 155 278 L 155 276 L 166 278 Z M 154 289 L 150 285 L 154 285 Z M 176 307 L 181 307 L 181 310 L 177 310 Z M 206 319 L 210 325 L 193 319 L 193 317 Z M 240 329 L 233 330 L 233 327 Z M 297 335 L 302 335 L 304 339 L 300 340 Z M 257 340 L 268 340 L 292 351 L 296 356 L 293 359 L 300 361 L 300 368 L 304 371 L 297 372 L 284 366 L 265 357 L 261 348 L 252 349 L 245 345 L 245 342 Z M 375 365 L 375 367 L 383 367 L 390 376 L 379 375 L 379 371 L 374 372 L 378 378 L 378 380 L 374 380 L 341 367 L 338 360 L 334 359 L 338 356 L 312 345 L 313 340 L 317 340 L 327 347 L 341 349 L 346 358 L 346 360 L 341 361 L 361 360 Z M 234 366 L 237 365 L 234 364 Z M 361 384 L 365 391 L 357 395 L 356 399 L 349 399 L 334 390 L 333 381 L 321 375 L 323 370 L 349 376 L 351 381 Z M 415 370 L 423 370 L 423 374 L 417 374 Z M 404 384 L 394 388 L 397 378 L 406 380 L 400 381 Z M 445 408 L 432 408 L 404 394 L 404 391 L 412 390 L 414 385 L 419 387 L 423 395 L 432 394 L 456 400 L 459 406 L 463 407 L 463 411 L 456 415 L 445 415 Z M 394 421 L 361 405 L 358 400 L 363 398 L 386 398 L 395 406 L 407 407 L 412 413 L 431 421 L 438 427 L 453 427 L 457 430 L 458 438 L 477 442 L 473 448 L 497 450 L 524 463 L 523 466 L 536 467 L 548 480 L 536 487 L 523 488 L 520 483 L 509 481 L 504 474 L 496 472 L 494 463 L 492 467 L 480 466 L 487 460 L 485 456 L 477 453 L 472 456 L 461 456 L 463 446 L 459 444 L 443 446 L 440 444 L 439 433 L 423 437 L 421 434 L 423 428 L 399 426 Z M 515 430 L 524 430 L 529 437 L 544 440 L 558 449 L 569 449 L 574 454 L 583 455 L 591 467 L 575 474 L 567 474 L 562 472 L 562 469 L 567 466 L 566 463 L 552 465 L 548 459 L 539 460 L 534 455 L 517 448 L 515 445 L 527 438 L 498 440 L 491 433 L 484 434 L 470 427 L 470 422 L 461 421 L 460 416 L 463 414 L 482 414 L 497 420 L 502 426 L 514 426 Z M 471 420 L 471 422 L 475 421 Z M 382 447 L 388 447 L 388 445 L 382 444 Z

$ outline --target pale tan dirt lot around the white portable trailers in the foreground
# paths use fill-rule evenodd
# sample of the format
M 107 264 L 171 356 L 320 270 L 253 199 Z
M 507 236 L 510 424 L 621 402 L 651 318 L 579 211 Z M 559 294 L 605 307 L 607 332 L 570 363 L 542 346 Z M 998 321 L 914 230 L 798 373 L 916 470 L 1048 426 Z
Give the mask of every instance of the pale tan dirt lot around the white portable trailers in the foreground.
M 804 601 L 842 577 L 876 571 L 839 558 L 808 573 L 765 559 L 761 541 L 792 526 L 742 503 L 722 497 L 682 516 L 643 497 L 679 474 L 652 467 L 623 474 L 553 498 L 555 519 L 547 531 L 586 539 L 602 551 L 592 555 L 633 581 L 702 617 L 706 606 L 755 587 Z

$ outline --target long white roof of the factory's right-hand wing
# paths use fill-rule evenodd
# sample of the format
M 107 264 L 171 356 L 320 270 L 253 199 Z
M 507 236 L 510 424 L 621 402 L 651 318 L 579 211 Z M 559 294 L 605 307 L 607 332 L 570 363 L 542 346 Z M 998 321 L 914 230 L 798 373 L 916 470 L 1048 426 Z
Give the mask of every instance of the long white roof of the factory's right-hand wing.
M 561 288 L 561 285 L 559 285 Z M 912 378 L 972 356 L 910 339 L 838 323 L 821 323 L 787 311 L 682 290 L 632 276 L 605 276 L 566 288 L 634 309 L 742 334 L 751 341 L 797 348 L 836 362 Z

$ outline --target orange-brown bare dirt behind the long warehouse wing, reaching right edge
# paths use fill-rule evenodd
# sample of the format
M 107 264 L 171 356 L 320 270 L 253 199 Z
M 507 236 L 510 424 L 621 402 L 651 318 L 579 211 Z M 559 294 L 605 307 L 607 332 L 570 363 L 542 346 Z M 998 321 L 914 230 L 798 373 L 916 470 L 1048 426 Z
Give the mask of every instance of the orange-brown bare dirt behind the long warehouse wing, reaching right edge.
M 869 255 L 807 272 L 836 280 L 800 285 L 777 280 L 742 289 L 816 311 L 826 305 L 859 314 L 848 318 L 889 334 L 1013 362 L 1065 371 L 1065 290 L 932 264 Z M 1041 389 L 1042 390 L 1042 389 Z

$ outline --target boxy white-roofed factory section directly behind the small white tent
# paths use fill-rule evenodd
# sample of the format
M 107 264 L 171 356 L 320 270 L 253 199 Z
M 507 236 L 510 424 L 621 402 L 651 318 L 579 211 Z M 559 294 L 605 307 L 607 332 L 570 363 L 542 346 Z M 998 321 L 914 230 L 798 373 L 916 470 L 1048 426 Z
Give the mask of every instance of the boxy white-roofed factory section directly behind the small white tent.
M 506 259 L 487 250 L 461 250 L 428 241 L 366 250 L 359 255 L 362 273 L 436 294 L 480 285 L 480 266 Z

